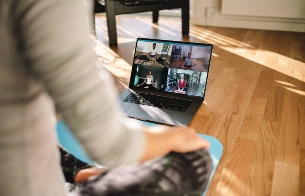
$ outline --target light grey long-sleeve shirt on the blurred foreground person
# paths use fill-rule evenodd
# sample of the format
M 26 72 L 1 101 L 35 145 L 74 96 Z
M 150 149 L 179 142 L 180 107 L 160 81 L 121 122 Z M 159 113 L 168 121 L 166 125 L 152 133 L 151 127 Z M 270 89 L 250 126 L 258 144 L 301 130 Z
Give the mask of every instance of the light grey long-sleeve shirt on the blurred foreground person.
M 121 118 L 95 65 L 84 0 L 0 1 L 0 195 L 64 195 L 54 106 L 98 164 L 139 161 L 141 125 Z

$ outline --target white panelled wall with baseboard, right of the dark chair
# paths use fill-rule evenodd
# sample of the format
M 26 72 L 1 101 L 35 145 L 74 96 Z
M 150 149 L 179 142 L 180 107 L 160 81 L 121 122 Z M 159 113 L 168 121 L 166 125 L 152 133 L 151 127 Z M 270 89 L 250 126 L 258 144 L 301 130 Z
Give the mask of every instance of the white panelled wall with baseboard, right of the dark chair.
M 194 0 L 192 9 L 192 24 L 305 32 L 305 0 Z

